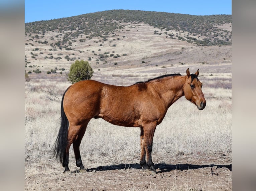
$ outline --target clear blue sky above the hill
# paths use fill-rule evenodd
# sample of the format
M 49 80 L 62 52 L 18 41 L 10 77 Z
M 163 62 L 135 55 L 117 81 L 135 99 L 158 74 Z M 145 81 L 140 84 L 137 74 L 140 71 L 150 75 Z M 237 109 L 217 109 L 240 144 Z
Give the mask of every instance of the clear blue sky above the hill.
M 25 0 L 25 23 L 112 9 L 161 11 L 189 15 L 231 14 L 232 0 Z

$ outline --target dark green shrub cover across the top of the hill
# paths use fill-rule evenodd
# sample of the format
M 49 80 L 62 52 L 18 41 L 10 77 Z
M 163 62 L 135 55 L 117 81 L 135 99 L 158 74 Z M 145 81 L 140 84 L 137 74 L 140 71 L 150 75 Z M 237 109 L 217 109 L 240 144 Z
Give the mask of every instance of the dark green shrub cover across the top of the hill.
M 166 12 L 110 10 L 79 16 L 25 23 L 25 35 L 35 33 L 34 38 L 47 31 L 59 32 L 62 39 L 52 46 L 69 49 L 73 38 L 85 35 L 85 38 L 101 37 L 104 41 L 111 33 L 123 29 L 124 23 L 145 23 L 156 28 L 155 35 L 165 34 L 168 38 L 187 41 L 201 46 L 231 45 L 231 31 L 218 25 L 231 23 L 231 15 L 195 16 Z M 159 32 L 160 30 L 161 32 Z M 170 30 L 186 31 L 184 36 L 168 33 Z M 195 38 L 196 35 L 202 38 Z M 81 40 L 81 39 L 80 39 Z M 86 39 L 84 39 L 85 41 Z M 46 44 L 47 41 L 40 42 Z

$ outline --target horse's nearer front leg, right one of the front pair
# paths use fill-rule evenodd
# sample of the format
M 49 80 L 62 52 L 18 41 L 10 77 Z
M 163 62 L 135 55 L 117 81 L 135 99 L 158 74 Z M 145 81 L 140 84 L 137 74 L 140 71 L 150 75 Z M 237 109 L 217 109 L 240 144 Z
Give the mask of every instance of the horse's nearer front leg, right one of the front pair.
M 152 148 L 153 148 L 153 137 L 156 129 L 156 124 L 146 124 L 143 126 L 144 129 L 144 149 L 146 151 L 146 165 L 149 170 L 155 171 L 154 163 L 152 162 Z

